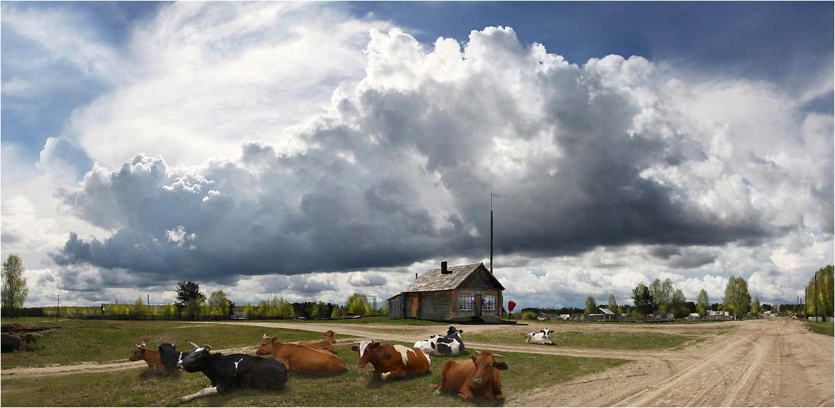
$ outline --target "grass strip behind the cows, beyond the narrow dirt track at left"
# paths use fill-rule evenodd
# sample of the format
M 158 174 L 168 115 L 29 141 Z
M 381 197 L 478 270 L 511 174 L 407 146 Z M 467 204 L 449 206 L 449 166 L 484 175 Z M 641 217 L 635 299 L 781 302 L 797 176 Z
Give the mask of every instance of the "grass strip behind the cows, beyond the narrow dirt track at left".
M 8 320 L 5 320 L 8 321 Z M 320 332 L 286 330 L 246 325 L 215 325 L 190 321 L 134 320 L 49 320 L 15 319 L 15 323 L 38 327 L 59 327 L 38 339 L 35 350 L 3 353 L 0 368 L 73 364 L 83 361 L 127 360 L 135 344 L 172 343 L 177 350 L 191 350 L 186 344 L 211 345 L 216 350 L 261 345 L 261 335 L 278 336 L 282 342 L 322 340 Z M 340 335 L 337 340 L 349 336 Z

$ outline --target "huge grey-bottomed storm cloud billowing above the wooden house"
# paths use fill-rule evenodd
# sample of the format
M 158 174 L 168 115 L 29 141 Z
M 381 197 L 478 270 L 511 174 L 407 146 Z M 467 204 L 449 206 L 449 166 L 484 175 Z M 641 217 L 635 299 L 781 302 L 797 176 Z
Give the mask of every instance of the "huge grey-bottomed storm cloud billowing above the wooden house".
M 213 161 L 200 174 L 142 154 L 113 172 L 95 169 L 58 196 L 79 218 L 117 231 L 103 241 L 71 234 L 53 260 L 225 283 L 483 259 L 491 167 L 502 254 L 653 244 L 665 245 L 656 257 L 686 269 L 716 254 L 676 246 L 754 243 L 791 228 L 750 205 L 706 207 L 689 184 L 647 175 L 680 172 L 702 189 L 716 182 L 688 167 L 711 156 L 711 135 L 689 133 L 692 118 L 671 106 L 642 58 L 579 68 L 502 28 L 457 47 L 439 42 L 436 59 L 425 58 L 405 34 L 372 32 L 357 97 L 297 131 L 302 153 L 245 144 L 239 161 Z M 435 78 L 435 68 L 451 73 Z M 750 202 L 741 178 L 726 179 L 729 192 L 717 194 Z M 372 278 L 352 285 L 386 283 Z M 332 288 L 306 278 L 289 285 Z

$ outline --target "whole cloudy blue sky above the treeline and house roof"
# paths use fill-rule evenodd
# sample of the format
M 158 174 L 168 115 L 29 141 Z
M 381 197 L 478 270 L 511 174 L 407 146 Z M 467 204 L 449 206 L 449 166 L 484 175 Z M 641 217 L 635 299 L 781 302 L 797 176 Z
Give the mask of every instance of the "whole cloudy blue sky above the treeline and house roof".
M 831 2 L 0 7 L 26 306 L 383 300 L 489 265 L 491 205 L 505 307 L 833 264 Z

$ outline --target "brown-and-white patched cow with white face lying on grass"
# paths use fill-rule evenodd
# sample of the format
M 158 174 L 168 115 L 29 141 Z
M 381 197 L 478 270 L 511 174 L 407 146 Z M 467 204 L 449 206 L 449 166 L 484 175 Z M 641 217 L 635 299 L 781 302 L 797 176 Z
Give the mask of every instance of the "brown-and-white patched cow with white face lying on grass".
M 372 375 L 379 375 L 381 380 L 388 380 L 403 375 L 417 375 L 429 372 L 432 359 L 423 350 L 405 345 L 380 345 L 374 340 L 354 341 L 351 350 L 360 353 L 357 367 L 365 367 L 368 363 L 374 366 Z

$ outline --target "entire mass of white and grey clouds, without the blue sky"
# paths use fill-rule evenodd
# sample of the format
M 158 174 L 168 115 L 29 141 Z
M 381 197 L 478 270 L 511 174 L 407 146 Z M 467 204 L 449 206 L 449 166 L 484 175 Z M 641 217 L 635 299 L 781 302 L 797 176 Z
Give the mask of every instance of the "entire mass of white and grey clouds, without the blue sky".
M 486 258 L 491 170 L 495 273 L 519 303 L 629 303 L 667 277 L 719 301 L 731 275 L 784 300 L 792 275 L 832 263 L 832 115 L 802 108 L 826 89 L 700 82 L 640 57 L 572 65 L 512 28 L 433 45 L 388 28 L 318 3 L 175 3 L 128 57 L 75 56 L 118 86 L 38 170 L 60 174 L 62 146 L 93 159 L 80 184 L 54 182 L 102 230 L 66 239 L 78 230 L 40 217 L 29 246 L 61 247 L 37 269 L 56 277 L 48 295 L 163 299 L 175 275 L 244 303 L 384 299 L 437 259 Z M 3 234 L 38 220 L 3 217 Z

